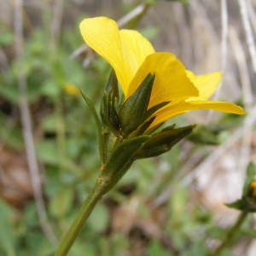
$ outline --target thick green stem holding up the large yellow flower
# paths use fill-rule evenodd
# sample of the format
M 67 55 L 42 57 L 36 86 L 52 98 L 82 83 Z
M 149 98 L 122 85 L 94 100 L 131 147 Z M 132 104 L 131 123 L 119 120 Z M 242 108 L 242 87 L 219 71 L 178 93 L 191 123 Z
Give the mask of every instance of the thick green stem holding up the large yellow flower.
M 77 217 L 74 219 L 73 224 L 71 224 L 67 233 L 62 237 L 59 247 L 55 252 L 55 256 L 65 256 L 67 255 L 70 247 L 72 247 L 73 242 L 79 236 L 80 231 L 83 229 L 84 222 L 90 216 L 90 212 L 96 206 L 97 201 L 102 198 L 106 192 L 106 187 L 99 179 L 96 182 L 94 189 L 90 192 L 86 200 L 84 201 L 82 207 L 79 210 Z

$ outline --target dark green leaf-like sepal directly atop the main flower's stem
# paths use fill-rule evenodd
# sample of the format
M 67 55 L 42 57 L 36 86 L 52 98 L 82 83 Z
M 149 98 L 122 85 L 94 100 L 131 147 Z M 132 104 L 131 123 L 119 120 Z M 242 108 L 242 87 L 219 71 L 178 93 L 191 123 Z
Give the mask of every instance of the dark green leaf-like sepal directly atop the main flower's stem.
M 111 189 L 125 172 L 129 169 L 131 164 L 136 160 L 135 155 L 137 150 L 143 147 L 143 143 L 147 142 L 149 136 L 134 137 L 119 144 L 113 150 L 108 163 L 103 167 L 100 178 L 105 183 L 108 189 Z M 108 190 L 107 189 L 107 190 Z

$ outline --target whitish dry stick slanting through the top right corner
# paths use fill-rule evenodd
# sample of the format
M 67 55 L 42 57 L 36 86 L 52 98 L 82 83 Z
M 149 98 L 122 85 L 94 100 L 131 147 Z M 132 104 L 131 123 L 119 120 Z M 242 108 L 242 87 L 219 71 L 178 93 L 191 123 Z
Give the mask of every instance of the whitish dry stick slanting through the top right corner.
M 253 71 L 256 73 L 256 47 L 253 38 L 253 30 L 249 21 L 247 3 L 245 0 L 237 0 L 240 7 L 241 20 L 244 26 L 244 30 L 247 38 L 247 45 L 249 48 L 249 53 L 251 55 L 252 63 L 253 63 Z

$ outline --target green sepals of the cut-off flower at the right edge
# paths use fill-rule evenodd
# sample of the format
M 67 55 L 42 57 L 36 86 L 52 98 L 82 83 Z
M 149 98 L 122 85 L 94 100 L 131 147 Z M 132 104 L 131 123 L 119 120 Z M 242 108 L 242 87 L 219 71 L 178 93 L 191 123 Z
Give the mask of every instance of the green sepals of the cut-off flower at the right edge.
M 256 167 L 253 163 L 247 166 L 247 177 L 243 185 L 241 199 L 226 204 L 227 207 L 241 210 L 242 212 L 256 212 L 256 197 L 253 196 L 253 189 L 251 183 L 254 181 L 256 175 Z

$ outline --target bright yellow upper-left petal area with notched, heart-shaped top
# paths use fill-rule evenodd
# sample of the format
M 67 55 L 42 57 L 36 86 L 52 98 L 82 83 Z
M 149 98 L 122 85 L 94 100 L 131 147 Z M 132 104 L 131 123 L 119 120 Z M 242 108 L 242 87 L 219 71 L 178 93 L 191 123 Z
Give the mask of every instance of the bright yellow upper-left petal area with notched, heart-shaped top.
M 129 84 L 137 69 L 154 48 L 139 32 L 120 30 L 108 17 L 84 19 L 80 32 L 86 44 L 108 61 L 127 95 Z

